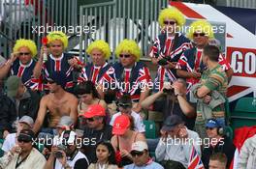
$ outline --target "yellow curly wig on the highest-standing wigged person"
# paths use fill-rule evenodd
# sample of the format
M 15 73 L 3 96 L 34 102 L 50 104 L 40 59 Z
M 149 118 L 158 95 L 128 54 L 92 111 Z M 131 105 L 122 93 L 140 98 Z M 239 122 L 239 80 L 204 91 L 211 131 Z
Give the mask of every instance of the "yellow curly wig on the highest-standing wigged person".
M 178 11 L 175 7 L 167 8 L 160 12 L 158 16 L 158 23 L 161 27 L 164 27 L 165 18 L 176 19 L 177 26 L 179 27 L 186 22 L 184 14 Z

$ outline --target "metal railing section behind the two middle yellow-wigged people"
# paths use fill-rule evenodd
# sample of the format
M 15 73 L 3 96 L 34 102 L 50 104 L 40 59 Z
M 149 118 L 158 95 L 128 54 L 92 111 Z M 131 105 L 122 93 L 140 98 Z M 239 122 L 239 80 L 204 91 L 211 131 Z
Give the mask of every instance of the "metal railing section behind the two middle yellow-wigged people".
M 80 36 L 80 59 L 87 55 L 84 49 L 90 42 L 105 40 L 114 50 L 123 39 L 135 40 L 143 50 L 159 34 L 157 23 L 161 9 L 168 6 L 168 0 L 113 0 L 106 3 L 80 6 L 80 25 L 90 31 Z M 112 54 L 113 55 L 113 54 Z M 112 57 L 114 61 L 114 57 Z

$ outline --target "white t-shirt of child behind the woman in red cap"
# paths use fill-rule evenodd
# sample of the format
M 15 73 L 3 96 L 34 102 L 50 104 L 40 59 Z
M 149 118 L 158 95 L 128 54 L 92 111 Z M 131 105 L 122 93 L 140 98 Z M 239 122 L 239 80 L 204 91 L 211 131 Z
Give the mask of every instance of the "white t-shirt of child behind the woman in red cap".
M 110 125 L 113 126 L 113 122 L 117 116 L 120 116 L 121 112 L 115 113 L 112 115 L 112 120 Z M 135 131 L 138 132 L 144 132 L 144 121 L 143 118 L 140 116 L 140 114 L 136 113 L 135 111 L 132 111 L 131 113 L 132 117 L 134 118 L 134 126 L 135 126 Z

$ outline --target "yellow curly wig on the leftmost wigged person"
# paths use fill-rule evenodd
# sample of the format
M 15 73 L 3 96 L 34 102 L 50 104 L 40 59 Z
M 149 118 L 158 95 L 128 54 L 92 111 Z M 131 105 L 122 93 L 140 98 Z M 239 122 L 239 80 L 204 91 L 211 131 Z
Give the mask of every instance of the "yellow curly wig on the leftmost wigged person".
M 25 40 L 25 39 L 19 39 L 16 41 L 16 45 L 14 46 L 14 52 L 18 52 L 18 49 L 20 47 L 27 47 L 30 52 L 31 52 L 31 56 L 35 57 L 37 55 L 37 45 L 35 42 L 31 41 L 31 40 Z

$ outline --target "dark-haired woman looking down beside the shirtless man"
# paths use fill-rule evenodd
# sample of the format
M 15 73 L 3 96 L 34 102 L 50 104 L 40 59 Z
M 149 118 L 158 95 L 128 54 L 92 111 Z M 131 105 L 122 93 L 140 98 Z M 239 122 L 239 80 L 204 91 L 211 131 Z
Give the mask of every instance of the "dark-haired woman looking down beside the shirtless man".
M 92 104 L 100 104 L 107 109 L 107 103 L 105 100 L 99 98 L 99 94 L 95 88 L 95 85 L 91 81 L 84 81 L 75 88 L 75 93 L 79 97 L 80 102 L 78 105 L 78 115 L 82 115 L 87 111 L 88 106 Z M 82 120 L 79 118 L 79 128 L 84 126 Z

